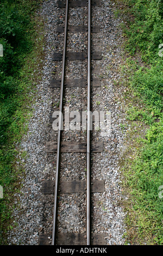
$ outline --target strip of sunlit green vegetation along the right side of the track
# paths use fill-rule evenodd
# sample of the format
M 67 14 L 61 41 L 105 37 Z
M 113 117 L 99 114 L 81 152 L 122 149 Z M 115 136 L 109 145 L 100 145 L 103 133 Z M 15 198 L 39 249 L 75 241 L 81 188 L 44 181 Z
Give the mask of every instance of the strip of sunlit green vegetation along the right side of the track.
M 162 245 L 163 198 L 159 192 L 163 185 L 163 2 L 117 0 L 116 5 L 122 14 L 128 55 L 121 69 L 128 88 L 128 120 L 145 130 L 137 129 L 139 136 L 134 141 L 135 134 L 130 134 L 131 147 L 126 152 L 129 157 L 123 162 L 124 186 L 129 195 L 126 239 L 130 244 Z M 128 101 L 129 91 L 132 97 Z

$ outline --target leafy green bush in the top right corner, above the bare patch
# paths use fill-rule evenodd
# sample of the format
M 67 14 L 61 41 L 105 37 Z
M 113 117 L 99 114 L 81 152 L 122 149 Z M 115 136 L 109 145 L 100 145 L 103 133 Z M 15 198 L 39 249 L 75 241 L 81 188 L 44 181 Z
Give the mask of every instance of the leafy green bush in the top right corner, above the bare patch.
M 163 2 L 160 0 L 128 0 L 130 14 L 134 21 L 129 22 L 127 48 L 131 54 L 142 51 L 143 60 L 150 60 L 158 54 L 159 44 L 162 43 Z

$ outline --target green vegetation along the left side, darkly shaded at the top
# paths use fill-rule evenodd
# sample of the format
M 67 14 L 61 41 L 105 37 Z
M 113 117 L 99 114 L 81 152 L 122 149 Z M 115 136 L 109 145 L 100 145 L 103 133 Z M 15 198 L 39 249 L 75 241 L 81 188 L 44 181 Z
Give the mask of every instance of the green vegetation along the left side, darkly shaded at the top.
M 35 11 L 42 1 L 4 0 L 0 3 L 0 229 L 10 227 L 12 200 L 23 166 L 18 166 L 18 142 L 27 131 L 30 107 L 39 79 L 43 22 Z M 37 38 L 37 40 L 35 40 Z M 39 66 L 40 65 L 40 66 Z M 30 92 L 30 94 L 29 94 Z M 22 158 L 25 153 L 22 152 Z M 17 162 L 17 163 L 16 163 Z M 0 240 L 1 240 L 0 233 Z

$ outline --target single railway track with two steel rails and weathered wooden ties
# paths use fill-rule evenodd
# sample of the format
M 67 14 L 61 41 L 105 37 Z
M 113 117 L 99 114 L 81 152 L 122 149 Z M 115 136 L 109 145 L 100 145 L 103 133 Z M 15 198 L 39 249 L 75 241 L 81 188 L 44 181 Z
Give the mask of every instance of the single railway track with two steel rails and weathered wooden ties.
M 55 52 L 53 55 L 54 62 L 62 62 L 61 78 L 58 80 L 52 80 L 50 88 L 60 88 L 60 103 L 59 112 L 53 113 L 51 117 L 51 123 L 54 125 L 58 123 L 58 139 L 57 141 L 47 142 L 46 152 L 57 154 L 56 170 L 55 170 L 55 182 L 44 181 L 42 184 L 43 194 L 54 194 L 54 207 L 53 207 L 53 228 L 52 234 L 41 234 L 39 236 L 39 245 L 105 245 L 104 234 L 93 234 L 91 231 L 91 193 L 104 192 L 104 181 L 93 180 L 91 177 L 91 154 L 100 153 L 103 151 L 103 142 L 91 141 L 92 130 L 92 113 L 91 113 L 91 87 L 100 87 L 100 81 L 98 79 L 92 80 L 91 77 L 91 60 L 101 59 L 101 52 L 91 51 L 91 33 L 98 33 L 99 26 L 91 26 L 91 7 L 99 6 L 101 3 L 98 0 L 94 1 L 58 1 L 59 8 L 65 8 L 65 24 L 64 26 L 57 26 L 56 31 L 58 33 L 64 33 L 64 46 L 62 53 Z M 87 26 L 68 25 L 68 11 L 70 8 L 87 8 Z M 67 51 L 67 35 L 68 33 L 86 33 L 87 34 L 87 51 L 83 49 L 81 52 L 68 52 Z M 67 60 L 87 60 L 87 79 L 78 78 L 76 80 L 68 80 L 65 77 L 66 62 Z M 73 87 L 85 87 L 87 90 L 87 114 L 86 114 L 86 141 L 62 141 L 63 127 L 63 115 L 64 112 L 64 93 L 65 88 Z M 85 109 L 83 109 L 84 111 Z M 77 114 L 77 113 L 75 113 Z M 74 116 L 75 116 L 74 114 Z M 80 123 L 81 115 L 77 115 L 73 120 L 76 123 Z M 83 117 L 83 116 L 82 116 Z M 68 113 L 68 123 L 72 120 Z M 80 120 L 79 120 L 80 119 Z M 72 122 L 73 122 L 72 120 Z M 65 115 L 66 123 L 66 115 Z M 86 154 L 86 179 L 85 180 L 72 180 L 65 181 L 60 179 L 61 168 L 61 154 L 64 153 L 84 153 Z M 83 193 L 86 194 L 86 232 L 85 233 L 58 233 L 58 197 L 59 194 L 67 193 Z M 82 210 L 84 211 L 84 209 Z

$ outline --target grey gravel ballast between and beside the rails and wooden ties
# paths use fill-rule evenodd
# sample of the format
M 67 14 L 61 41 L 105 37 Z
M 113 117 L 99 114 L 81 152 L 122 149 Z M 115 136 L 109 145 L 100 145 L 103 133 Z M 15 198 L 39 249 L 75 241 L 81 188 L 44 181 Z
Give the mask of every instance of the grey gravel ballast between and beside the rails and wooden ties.
M 92 25 L 100 25 L 101 31 L 92 34 L 92 50 L 102 51 L 102 60 L 92 60 L 92 77 L 101 80 L 101 87 L 91 89 L 91 108 L 111 114 L 111 130 L 108 135 L 102 130 L 92 131 L 92 141 L 103 141 L 103 152 L 92 154 L 91 176 L 104 180 L 104 193 L 93 193 L 92 232 L 104 233 L 107 245 L 123 245 L 126 231 L 125 214 L 120 205 L 121 179 L 119 161 L 123 154 L 125 116 L 121 103 L 117 101 L 121 91 L 114 81 L 121 79 L 117 67 L 121 63 L 121 30 L 119 19 L 114 17 L 114 3 L 101 1 L 101 7 L 92 7 Z M 56 154 L 45 152 L 46 142 L 57 141 L 57 131 L 49 122 L 50 114 L 58 110 L 60 89 L 49 88 L 52 78 L 61 74 L 61 62 L 53 62 L 54 52 L 62 52 L 63 34 L 55 32 L 57 25 L 64 24 L 64 8 L 57 7 L 57 1 L 43 1 L 40 15 L 45 20 L 45 59 L 42 80 L 37 84 L 37 99 L 33 106 L 34 115 L 29 121 L 29 131 L 22 139 L 20 148 L 27 151 L 24 161 L 25 178 L 21 192 L 15 194 L 15 209 L 12 220 L 16 224 L 8 231 L 9 245 L 37 245 L 39 234 L 52 233 L 53 195 L 41 193 L 42 181 L 55 179 Z M 71 8 L 71 25 L 87 25 L 87 8 Z M 67 50 L 86 50 L 87 34 L 68 34 Z M 86 77 L 86 61 L 67 61 L 67 78 Z M 121 88 L 122 89 L 122 88 Z M 86 88 L 66 88 L 65 106 L 70 110 L 86 110 Z M 86 133 L 64 131 L 64 141 L 85 141 Z M 61 157 L 61 179 L 85 179 L 86 154 L 64 153 Z M 85 194 L 60 194 L 59 225 L 60 233 L 85 233 L 86 200 Z

